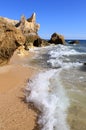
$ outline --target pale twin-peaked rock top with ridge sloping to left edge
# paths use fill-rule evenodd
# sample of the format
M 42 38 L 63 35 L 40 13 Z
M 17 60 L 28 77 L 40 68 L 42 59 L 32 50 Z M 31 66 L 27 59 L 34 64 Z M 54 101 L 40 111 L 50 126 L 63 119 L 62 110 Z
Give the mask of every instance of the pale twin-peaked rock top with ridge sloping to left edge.
M 36 23 L 36 14 L 35 13 L 33 13 L 32 16 L 28 19 L 26 19 L 25 16 L 22 16 L 20 21 L 8 19 L 5 17 L 0 17 L 0 19 L 2 19 L 3 21 L 5 21 L 9 24 L 12 24 L 15 27 L 17 27 L 18 29 L 20 29 L 25 36 L 28 36 L 31 34 L 37 35 L 38 30 L 40 28 L 40 24 Z

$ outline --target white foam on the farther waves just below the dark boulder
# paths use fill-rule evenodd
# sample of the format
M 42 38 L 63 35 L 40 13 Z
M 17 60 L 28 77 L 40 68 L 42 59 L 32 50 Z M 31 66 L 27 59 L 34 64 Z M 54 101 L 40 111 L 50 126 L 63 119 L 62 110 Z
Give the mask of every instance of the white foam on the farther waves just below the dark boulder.
M 50 57 L 49 57 L 49 60 L 47 60 L 47 63 L 52 68 L 77 67 L 77 66 L 82 65 L 82 63 L 77 62 L 77 59 L 76 59 L 76 62 L 72 62 L 69 57 L 69 56 L 73 56 L 77 54 L 79 55 L 80 53 L 72 49 L 70 46 L 58 45 L 56 48 L 49 51 Z

